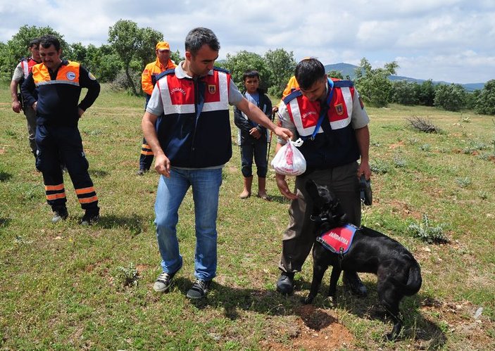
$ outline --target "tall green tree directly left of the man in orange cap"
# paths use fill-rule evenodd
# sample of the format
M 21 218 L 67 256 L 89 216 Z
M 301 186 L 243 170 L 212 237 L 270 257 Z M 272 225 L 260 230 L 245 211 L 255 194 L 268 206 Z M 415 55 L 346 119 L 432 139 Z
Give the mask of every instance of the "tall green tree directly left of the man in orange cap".
M 108 43 L 122 61 L 127 84 L 132 94 L 138 95 L 136 85 L 144 65 L 154 58 L 156 42 L 163 40 L 163 34 L 149 27 L 139 28 L 132 20 L 118 20 L 108 29 Z M 139 86 L 140 87 L 140 86 Z

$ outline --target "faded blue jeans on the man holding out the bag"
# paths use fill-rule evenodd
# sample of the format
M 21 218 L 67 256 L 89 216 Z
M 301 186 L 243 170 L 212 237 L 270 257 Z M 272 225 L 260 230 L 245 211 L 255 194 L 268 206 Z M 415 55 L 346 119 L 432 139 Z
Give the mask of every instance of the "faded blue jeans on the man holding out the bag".
M 179 170 L 172 168 L 170 178 L 160 177 L 155 202 L 156 238 L 163 272 L 174 273 L 182 267 L 182 255 L 177 241 L 178 210 L 189 186 L 192 186 L 196 221 L 196 253 L 194 276 L 211 280 L 217 269 L 218 193 L 222 184 L 222 169 Z

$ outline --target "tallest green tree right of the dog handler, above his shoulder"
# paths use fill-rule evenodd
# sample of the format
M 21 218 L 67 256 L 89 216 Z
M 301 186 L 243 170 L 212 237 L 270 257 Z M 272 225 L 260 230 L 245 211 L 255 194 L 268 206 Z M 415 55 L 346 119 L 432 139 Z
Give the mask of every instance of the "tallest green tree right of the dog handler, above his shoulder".
M 390 101 L 392 84 L 389 75 L 395 75 L 399 65 L 393 61 L 385 63 L 384 68 L 372 69 L 366 58 L 361 59 L 361 63 L 356 68 L 356 87 L 365 103 L 375 107 L 387 106 Z

